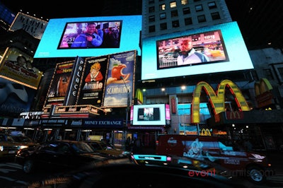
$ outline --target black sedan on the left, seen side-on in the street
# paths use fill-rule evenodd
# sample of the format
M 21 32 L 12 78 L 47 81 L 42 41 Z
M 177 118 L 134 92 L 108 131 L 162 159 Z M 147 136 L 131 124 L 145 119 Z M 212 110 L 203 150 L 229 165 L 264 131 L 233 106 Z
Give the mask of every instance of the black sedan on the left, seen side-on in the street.
M 23 172 L 32 173 L 40 169 L 74 170 L 105 159 L 83 141 L 57 140 L 19 150 L 15 162 L 23 165 Z

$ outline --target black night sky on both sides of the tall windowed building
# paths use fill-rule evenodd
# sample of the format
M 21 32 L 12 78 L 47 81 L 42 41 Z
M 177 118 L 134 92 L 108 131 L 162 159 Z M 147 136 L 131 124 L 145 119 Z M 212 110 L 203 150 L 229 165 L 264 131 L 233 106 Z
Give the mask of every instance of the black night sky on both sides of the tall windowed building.
M 65 0 L 0 1 L 15 13 L 22 9 L 23 13 L 29 12 L 31 16 L 35 14 L 35 17 L 42 17 L 43 20 L 141 14 L 141 0 L 95 0 L 76 3 Z M 248 47 L 265 46 L 269 42 L 275 47 L 282 47 L 282 0 L 225 1 L 232 20 L 238 22 Z

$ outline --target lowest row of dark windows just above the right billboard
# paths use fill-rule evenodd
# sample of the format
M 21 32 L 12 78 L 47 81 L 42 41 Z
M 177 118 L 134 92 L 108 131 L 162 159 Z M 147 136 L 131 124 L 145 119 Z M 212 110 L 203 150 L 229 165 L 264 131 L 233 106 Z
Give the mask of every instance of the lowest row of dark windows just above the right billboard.
M 220 15 L 218 12 L 215 12 L 215 13 L 211 13 L 211 16 L 212 16 L 212 20 L 218 20 L 220 19 Z M 166 18 L 166 16 L 165 16 Z M 165 19 L 165 18 L 162 18 L 162 19 Z M 154 18 L 150 18 L 150 19 L 154 19 Z M 207 19 L 205 18 L 204 15 L 200 15 L 200 16 L 197 16 L 197 20 L 198 20 L 198 23 L 203 23 L 203 22 L 206 22 Z M 192 25 L 192 18 L 184 18 L 184 22 L 185 22 L 185 25 Z M 172 28 L 179 28 L 180 27 L 180 23 L 179 23 L 179 20 L 173 20 L 172 21 Z M 166 30 L 167 29 L 167 23 L 161 23 L 160 24 L 160 30 Z M 155 25 L 150 25 L 149 26 L 149 33 L 153 33 L 156 31 L 156 27 Z

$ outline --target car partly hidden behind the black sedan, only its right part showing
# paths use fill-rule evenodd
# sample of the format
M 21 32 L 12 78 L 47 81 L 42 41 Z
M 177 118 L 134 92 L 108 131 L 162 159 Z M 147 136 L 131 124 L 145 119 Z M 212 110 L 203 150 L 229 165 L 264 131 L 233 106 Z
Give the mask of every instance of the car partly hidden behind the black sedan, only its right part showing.
M 110 158 L 125 158 L 130 154 L 129 151 L 114 148 L 105 141 L 87 140 L 84 142 L 88 143 L 95 152 L 101 153 L 102 155 L 106 155 Z

